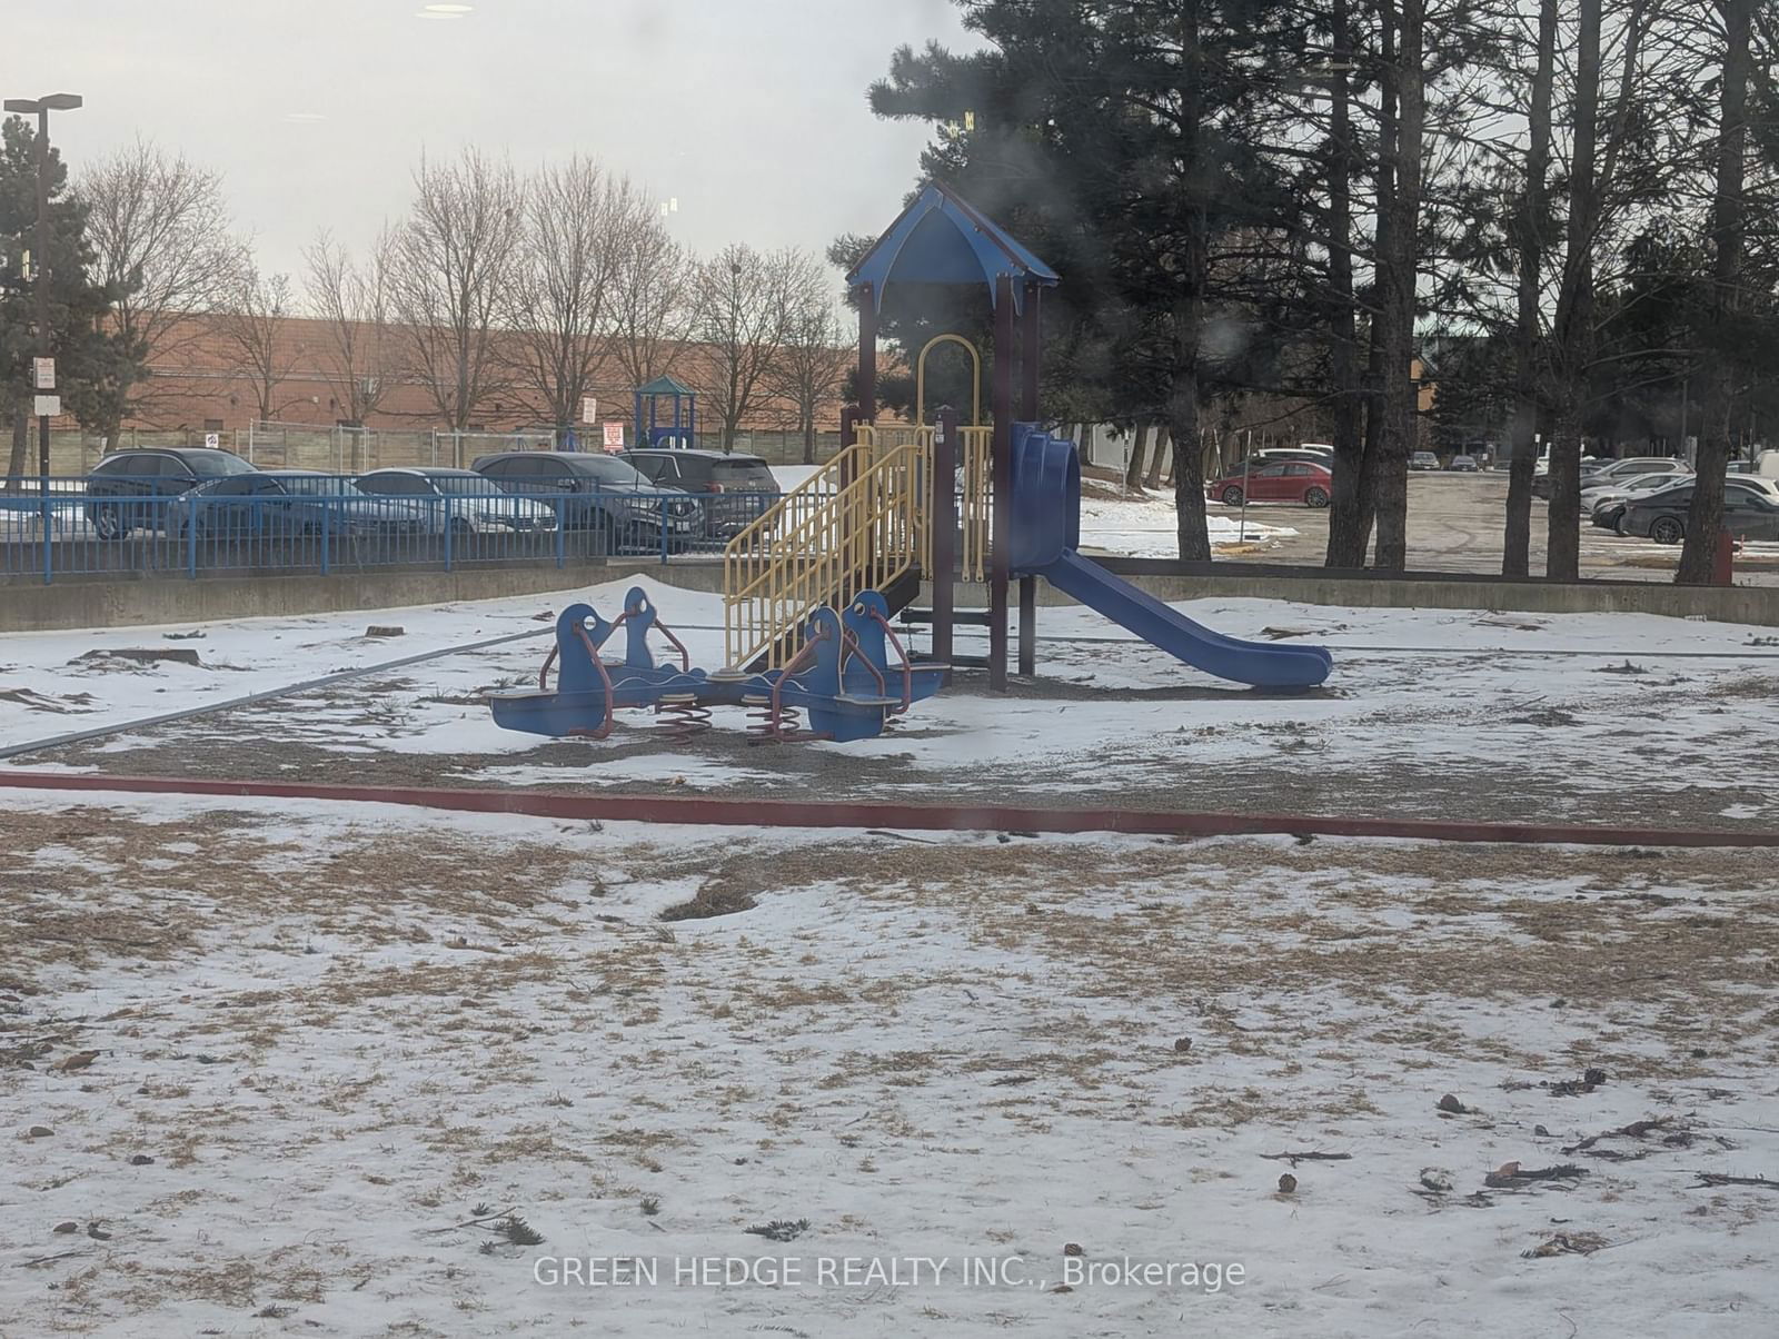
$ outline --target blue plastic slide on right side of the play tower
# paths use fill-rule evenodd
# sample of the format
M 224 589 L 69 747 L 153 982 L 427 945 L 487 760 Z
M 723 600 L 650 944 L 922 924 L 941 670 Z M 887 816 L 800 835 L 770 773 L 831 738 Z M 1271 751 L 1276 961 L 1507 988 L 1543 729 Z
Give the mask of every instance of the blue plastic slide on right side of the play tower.
M 1014 424 L 1012 570 L 1059 591 L 1151 646 L 1217 678 L 1270 689 L 1308 689 L 1334 670 L 1324 646 L 1240 641 L 1211 632 L 1147 591 L 1075 552 L 1082 536 L 1082 467 L 1075 443 Z

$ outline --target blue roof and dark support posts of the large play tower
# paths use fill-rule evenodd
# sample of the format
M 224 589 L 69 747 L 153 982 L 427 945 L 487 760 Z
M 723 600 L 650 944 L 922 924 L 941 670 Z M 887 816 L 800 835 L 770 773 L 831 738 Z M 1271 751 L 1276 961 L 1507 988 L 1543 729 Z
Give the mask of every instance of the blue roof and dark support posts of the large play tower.
M 989 687 L 1007 687 L 1007 588 L 1012 552 L 1012 424 L 1014 424 L 1014 326 L 1019 347 L 1019 413 L 1037 422 L 1039 299 L 1059 283 L 1057 272 L 1005 230 L 939 182 L 929 182 L 847 274 L 859 299 L 859 422 L 877 418 L 877 321 L 891 285 L 987 285 L 994 308 L 994 370 L 989 397 L 994 420 L 993 486 L 994 513 L 989 543 Z M 945 337 L 941 337 L 945 338 Z M 952 477 L 954 433 L 941 433 L 934 477 Z M 941 490 L 934 490 L 938 495 Z M 950 490 L 943 490 L 946 502 Z M 941 506 L 945 523 L 934 531 L 934 655 L 950 657 L 952 645 L 952 507 Z M 1037 580 L 1019 580 L 1019 673 L 1030 675 L 1037 661 Z

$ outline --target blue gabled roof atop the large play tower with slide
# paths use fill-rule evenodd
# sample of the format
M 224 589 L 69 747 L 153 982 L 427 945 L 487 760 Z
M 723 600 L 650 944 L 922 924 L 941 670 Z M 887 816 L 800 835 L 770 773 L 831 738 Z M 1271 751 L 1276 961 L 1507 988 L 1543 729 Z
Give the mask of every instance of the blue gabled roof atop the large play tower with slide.
M 902 210 L 877 244 L 847 276 L 849 288 L 872 285 L 881 308 L 891 283 L 986 283 L 993 301 L 996 280 L 1028 280 L 1057 285 L 1057 272 L 989 223 L 948 187 L 929 182 L 914 203 Z M 1014 285 L 1014 306 L 1023 303 L 1023 283 Z

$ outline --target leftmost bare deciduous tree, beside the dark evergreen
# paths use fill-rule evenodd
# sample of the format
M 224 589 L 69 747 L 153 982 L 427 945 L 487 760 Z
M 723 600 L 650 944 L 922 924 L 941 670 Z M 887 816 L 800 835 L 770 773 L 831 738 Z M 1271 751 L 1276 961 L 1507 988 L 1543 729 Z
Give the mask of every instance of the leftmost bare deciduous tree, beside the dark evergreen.
M 221 174 L 149 141 L 96 162 L 76 191 L 96 271 L 114 294 L 119 358 L 94 388 L 94 427 L 116 442 L 125 418 L 153 413 L 149 367 L 199 337 L 192 317 L 229 294 L 242 253 Z

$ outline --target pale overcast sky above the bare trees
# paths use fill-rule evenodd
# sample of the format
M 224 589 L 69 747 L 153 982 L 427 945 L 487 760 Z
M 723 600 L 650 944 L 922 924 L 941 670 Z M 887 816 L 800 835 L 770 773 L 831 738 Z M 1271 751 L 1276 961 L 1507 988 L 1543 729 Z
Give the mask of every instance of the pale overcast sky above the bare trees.
M 50 132 L 76 171 L 139 134 L 221 169 L 262 265 L 299 276 L 318 226 L 363 246 L 422 150 L 468 142 L 521 169 L 591 153 L 676 196 L 697 249 L 875 233 L 927 128 L 872 118 L 866 85 L 900 43 L 971 45 L 950 0 L 427 4 L 21 0 L 0 82 L 85 96 Z

